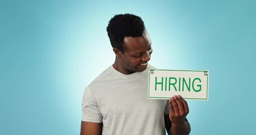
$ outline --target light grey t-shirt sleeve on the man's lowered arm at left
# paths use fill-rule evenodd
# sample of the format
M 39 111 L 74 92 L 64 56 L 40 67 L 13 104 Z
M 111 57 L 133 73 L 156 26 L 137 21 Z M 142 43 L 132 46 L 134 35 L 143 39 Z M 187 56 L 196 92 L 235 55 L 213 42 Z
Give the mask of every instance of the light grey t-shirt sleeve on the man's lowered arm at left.
M 84 91 L 82 112 L 83 122 L 102 123 L 102 115 L 98 107 L 98 103 L 89 87 L 87 87 L 86 91 Z

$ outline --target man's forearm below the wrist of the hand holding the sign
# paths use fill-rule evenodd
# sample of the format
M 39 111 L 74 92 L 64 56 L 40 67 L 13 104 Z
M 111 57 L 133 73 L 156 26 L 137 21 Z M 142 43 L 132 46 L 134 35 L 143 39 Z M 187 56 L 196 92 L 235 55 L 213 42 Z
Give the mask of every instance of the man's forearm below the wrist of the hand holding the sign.
M 185 123 L 181 125 L 175 125 L 172 124 L 172 127 L 170 128 L 169 134 L 171 135 L 187 135 L 190 133 L 190 124 L 185 121 Z

